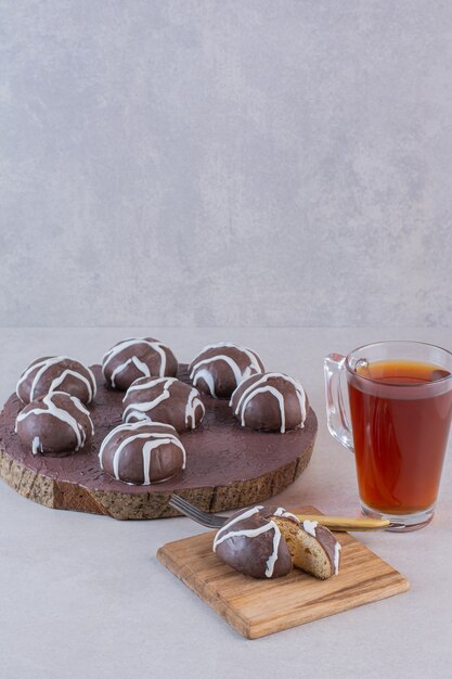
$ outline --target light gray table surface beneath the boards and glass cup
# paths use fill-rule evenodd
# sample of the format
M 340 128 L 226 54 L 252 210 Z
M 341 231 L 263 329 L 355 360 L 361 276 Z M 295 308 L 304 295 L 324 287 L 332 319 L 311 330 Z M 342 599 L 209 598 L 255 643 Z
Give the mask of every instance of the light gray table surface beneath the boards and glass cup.
M 353 457 L 325 424 L 322 359 L 360 344 L 411 338 L 452 346 L 447 329 L 2 329 L 1 398 L 42 355 L 99 362 L 133 334 L 167 342 L 182 361 L 205 344 L 244 343 L 271 370 L 299 377 L 319 415 L 311 464 L 277 501 L 358 512 Z M 362 541 L 408 576 L 411 590 L 260 640 L 238 636 L 155 558 L 194 535 L 185 518 L 116 522 L 53 511 L 0 484 L 0 677 L 451 677 L 451 463 L 434 523 Z

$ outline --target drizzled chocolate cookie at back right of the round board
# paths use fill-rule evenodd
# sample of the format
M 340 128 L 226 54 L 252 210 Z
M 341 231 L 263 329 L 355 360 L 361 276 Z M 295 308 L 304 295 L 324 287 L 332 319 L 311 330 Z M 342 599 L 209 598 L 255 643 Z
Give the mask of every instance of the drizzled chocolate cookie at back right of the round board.
M 214 398 L 229 398 L 237 385 L 263 372 L 259 356 L 231 342 L 211 344 L 193 359 L 190 379 L 201 392 Z

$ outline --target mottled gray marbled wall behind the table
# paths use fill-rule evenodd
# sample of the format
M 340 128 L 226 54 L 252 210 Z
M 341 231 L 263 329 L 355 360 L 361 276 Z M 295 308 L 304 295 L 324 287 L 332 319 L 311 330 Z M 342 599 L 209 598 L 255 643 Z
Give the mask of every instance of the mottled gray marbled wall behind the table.
M 452 2 L 0 14 L 0 325 L 451 324 Z

